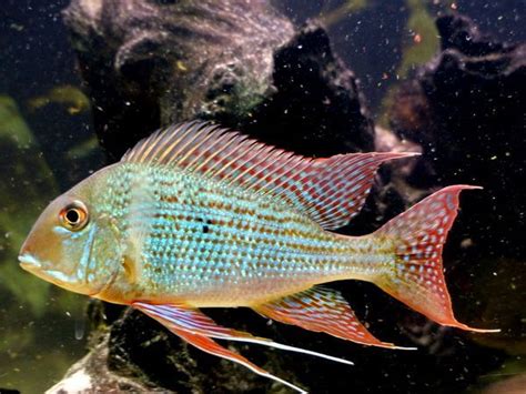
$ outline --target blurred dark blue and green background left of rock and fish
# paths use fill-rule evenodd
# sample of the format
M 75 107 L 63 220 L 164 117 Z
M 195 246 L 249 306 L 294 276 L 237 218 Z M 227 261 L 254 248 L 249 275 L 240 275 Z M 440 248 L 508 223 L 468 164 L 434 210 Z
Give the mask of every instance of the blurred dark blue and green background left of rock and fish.
M 28 275 L 18 252 L 41 210 L 104 163 L 60 23 L 67 1 L 34 6 L 0 6 L 0 387 L 23 393 L 82 356 L 87 300 Z

